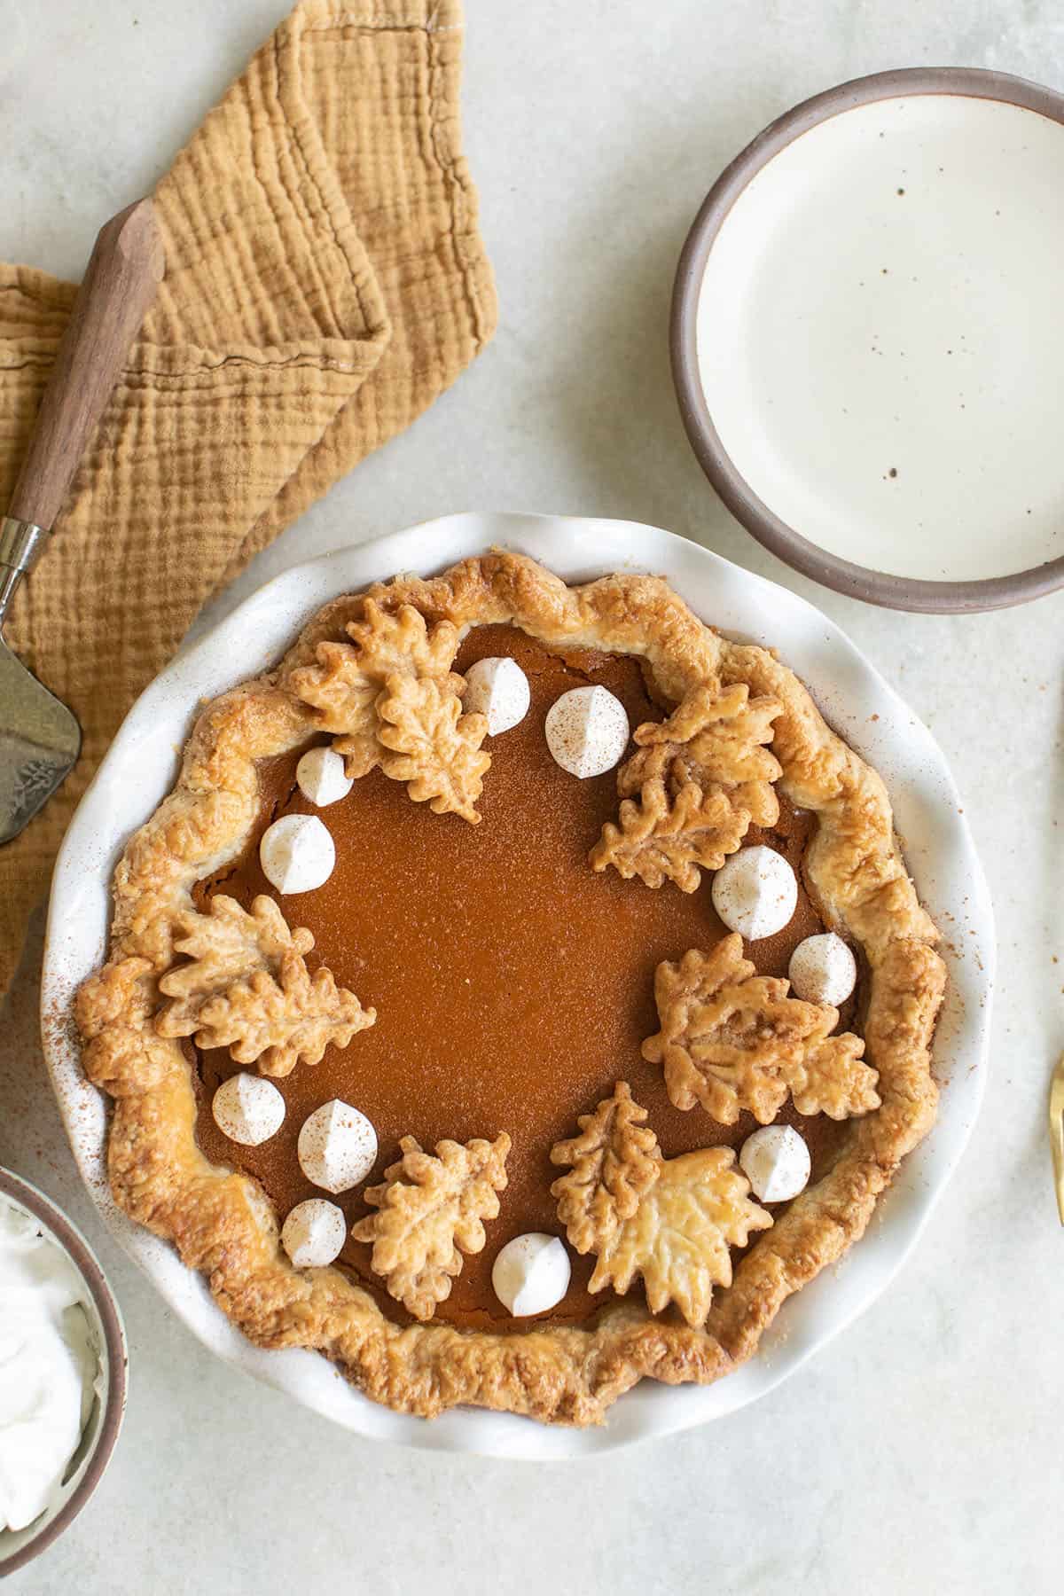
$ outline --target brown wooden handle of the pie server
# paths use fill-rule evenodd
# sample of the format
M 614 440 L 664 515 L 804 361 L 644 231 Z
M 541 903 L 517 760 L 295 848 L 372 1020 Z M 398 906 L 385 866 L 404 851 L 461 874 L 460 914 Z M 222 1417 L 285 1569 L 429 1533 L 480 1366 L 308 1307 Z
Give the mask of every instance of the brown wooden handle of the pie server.
M 100 228 L 56 351 L 10 516 L 51 530 L 164 270 L 150 200 L 139 200 Z

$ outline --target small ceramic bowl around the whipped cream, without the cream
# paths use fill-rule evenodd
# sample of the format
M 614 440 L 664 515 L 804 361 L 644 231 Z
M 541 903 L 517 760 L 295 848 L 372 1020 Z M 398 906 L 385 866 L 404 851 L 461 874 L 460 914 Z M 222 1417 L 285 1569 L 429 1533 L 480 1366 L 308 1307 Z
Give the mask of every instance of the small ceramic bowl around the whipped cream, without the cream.
M 35 1558 L 64 1532 L 104 1478 L 126 1412 L 126 1333 L 99 1261 L 81 1232 L 35 1186 L 0 1170 L 0 1199 L 29 1213 L 78 1270 L 85 1307 L 100 1360 L 100 1390 L 89 1412 L 62 1489 L 48 1511 L 26 1529 L 0 1529 L 0 1578 Z

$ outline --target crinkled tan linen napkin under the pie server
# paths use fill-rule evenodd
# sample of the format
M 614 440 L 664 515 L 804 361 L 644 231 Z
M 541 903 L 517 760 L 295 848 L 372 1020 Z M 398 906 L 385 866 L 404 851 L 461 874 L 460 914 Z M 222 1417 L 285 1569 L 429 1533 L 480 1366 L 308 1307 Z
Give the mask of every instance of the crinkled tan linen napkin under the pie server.
M 85 749 L 0 847 L 0 994 L 73 806 L 204 600 L 495 330 L 459 62 L 459 0 L 303 0 L 156 190 L 166 281 L 8 629 Z M 0 265 L 0 511 L 73 292 Z

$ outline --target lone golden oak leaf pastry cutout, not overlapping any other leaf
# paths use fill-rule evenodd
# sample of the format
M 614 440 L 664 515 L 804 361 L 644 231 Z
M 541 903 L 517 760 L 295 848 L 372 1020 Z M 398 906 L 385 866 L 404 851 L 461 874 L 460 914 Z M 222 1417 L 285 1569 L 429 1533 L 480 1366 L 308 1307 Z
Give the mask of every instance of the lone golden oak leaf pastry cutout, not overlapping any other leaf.
M 506 1187 L 510 1138 L 502 1132 L 495 1141 L 445 1140 L 432 1156 L 404 1136 L 399 1151 L 383 1183 L 365 1189 L 376 1213 L 359 1219 L 351 1235 L 373 1246 L 373 1272 L 424 1321 L 450 1296 L 463 1253 L 483 1250 L 483 1221 L 498 1218 L 498 1192 Z

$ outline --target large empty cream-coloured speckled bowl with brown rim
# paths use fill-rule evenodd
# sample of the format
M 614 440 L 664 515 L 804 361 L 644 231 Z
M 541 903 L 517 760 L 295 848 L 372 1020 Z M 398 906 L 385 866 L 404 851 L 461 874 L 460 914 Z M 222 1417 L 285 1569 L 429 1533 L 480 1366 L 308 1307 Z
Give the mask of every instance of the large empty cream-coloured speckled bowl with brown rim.
M 684 244 L 672 359 L 732 514 L 900 610 L 1064 584 L 1064 97 L 882 72 L 774 121 Z

